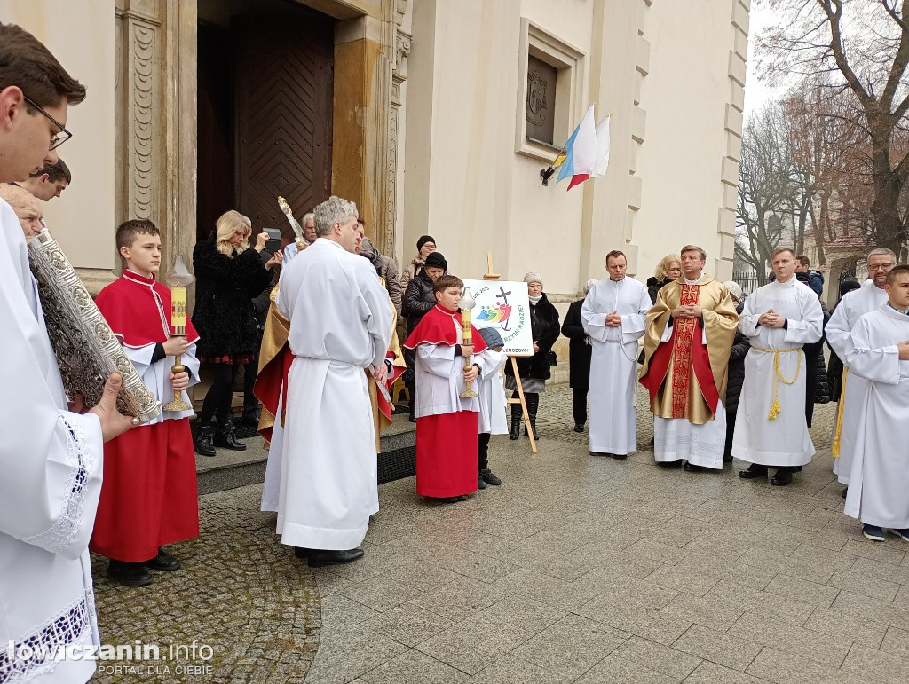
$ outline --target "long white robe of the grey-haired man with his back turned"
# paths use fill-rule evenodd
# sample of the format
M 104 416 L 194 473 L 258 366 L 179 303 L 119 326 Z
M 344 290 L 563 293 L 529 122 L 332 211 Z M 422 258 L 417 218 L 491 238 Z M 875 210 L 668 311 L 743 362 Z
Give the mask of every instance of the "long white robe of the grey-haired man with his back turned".
M 326 238 L 282 270 L 277 307 L 295 355 L 277 531 L 291 546 L 353 549 L 379 510 L 364 369 L 385 363 L 394 309 L 372 264 Z

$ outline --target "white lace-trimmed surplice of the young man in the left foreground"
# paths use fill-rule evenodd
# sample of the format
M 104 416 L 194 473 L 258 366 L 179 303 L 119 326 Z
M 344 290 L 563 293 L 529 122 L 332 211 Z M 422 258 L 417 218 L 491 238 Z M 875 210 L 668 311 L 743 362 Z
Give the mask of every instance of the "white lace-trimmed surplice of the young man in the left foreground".
M 3 200 L 0 229 L 0 681 L 84 682 L 95 672 L 90 659 L 16 654 L 100 643 L 88 540 L 101 494 L 101 424 L 66 411 L 22 225 Z

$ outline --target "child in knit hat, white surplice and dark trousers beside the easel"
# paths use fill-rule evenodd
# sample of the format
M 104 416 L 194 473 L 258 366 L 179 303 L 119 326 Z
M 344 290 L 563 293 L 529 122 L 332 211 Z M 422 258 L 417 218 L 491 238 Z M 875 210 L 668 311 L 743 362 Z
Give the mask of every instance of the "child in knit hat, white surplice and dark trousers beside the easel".
M 480 397 L 480 433 L 477 435 L 476 448 L 476 488 L 486 489 L 486 485 L 500 485 L 502 481 L 489 470 L 489 438 L 494 434 L 508 434 L 508 418 L 505 415 L 505 388 L 500 372 L 508 361 L 508 354 L 503 352 L 502 335 L 494 327 L 480 331 L 486 343 L 486 351 L 477 357 L 484 368 L 476 392 Z

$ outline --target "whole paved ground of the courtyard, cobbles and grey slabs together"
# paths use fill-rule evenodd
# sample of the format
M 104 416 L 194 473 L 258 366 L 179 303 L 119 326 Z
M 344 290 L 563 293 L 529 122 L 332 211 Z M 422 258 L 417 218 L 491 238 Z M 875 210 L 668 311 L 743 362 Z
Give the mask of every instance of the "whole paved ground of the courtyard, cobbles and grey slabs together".
M 501 487 L 435 504 L 412 479 L 382 485 L 349 566 L 281 548 L 261 485 L 203 497 L 185 573 L 96 580 L 105 642 L 209 639 L 204 681 L 909 681 L 909 544 L 864 540 L 843 515 L 835 404 L 817 407 L 819 456 L 775 488 L 740 481 L 739 462 L 591 457 L 569 392 L 544 394 L 536 455 L 494 438 Z M 651 425 L 642 411 L 644 446 Z

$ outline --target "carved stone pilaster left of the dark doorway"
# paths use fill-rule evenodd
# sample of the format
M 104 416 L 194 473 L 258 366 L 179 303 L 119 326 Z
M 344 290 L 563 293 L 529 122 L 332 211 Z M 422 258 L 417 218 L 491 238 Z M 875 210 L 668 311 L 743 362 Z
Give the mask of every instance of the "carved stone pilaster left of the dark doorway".
M 115 8 L 115 223 L 158 226 L 164 275 L 195 243 L 197 5 L 116 0 Z

